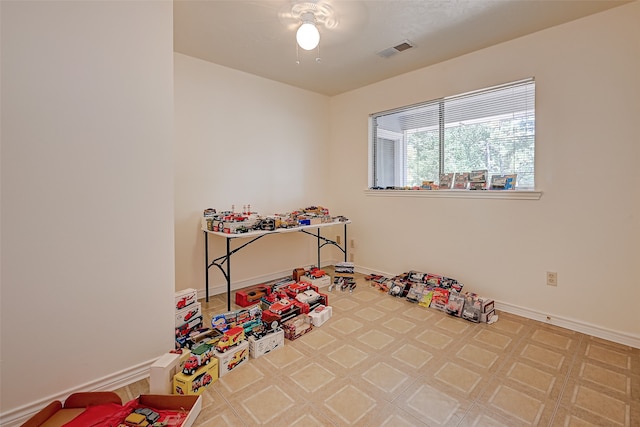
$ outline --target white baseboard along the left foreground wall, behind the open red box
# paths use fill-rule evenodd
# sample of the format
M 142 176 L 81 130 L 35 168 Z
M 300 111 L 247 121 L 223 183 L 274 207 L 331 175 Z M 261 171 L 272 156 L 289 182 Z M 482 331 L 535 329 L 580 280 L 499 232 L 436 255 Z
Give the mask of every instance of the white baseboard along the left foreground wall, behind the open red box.
M 134 382 L 140 381 L 149 376 L 149 368 L 153 362 L 155 362 L 155 359 L 1 413 L 0 426 L 20 426 L 49 403 L 54 400 L 64 402 L 72 393 L 84 391 L 111 391 L 133 384 Z

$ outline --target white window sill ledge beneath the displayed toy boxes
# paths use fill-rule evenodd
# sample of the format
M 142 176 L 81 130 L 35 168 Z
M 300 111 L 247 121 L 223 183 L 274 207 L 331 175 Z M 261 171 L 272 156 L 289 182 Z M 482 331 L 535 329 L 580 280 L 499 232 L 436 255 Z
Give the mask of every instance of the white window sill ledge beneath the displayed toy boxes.
M 429 197 L 440 199 L 539 200 L 542 191 L 514 190 L 364 190 L 373 197 Z

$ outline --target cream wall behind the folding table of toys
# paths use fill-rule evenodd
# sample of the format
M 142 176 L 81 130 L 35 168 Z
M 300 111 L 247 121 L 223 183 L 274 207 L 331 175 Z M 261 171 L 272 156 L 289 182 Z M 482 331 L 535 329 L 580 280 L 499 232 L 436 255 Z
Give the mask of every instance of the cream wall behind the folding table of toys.
M 241 211 L 250 204 L 271 214 L 333 207 L 326 185 L 333 161 L 328 117 L 326 96 L 175 54 L 177 289 L 204 289 L 205 208 Z M 234 287 L 316 263 L 314 242 L 292 233 L 247 246 L 231 258 Z M 224 245 L 211 237 L 210 259 L 224 253 Z M 323 250 L 323 260 L 331 256 Z M 211 294 L 225 289 L 216 267 L 209 277 Z

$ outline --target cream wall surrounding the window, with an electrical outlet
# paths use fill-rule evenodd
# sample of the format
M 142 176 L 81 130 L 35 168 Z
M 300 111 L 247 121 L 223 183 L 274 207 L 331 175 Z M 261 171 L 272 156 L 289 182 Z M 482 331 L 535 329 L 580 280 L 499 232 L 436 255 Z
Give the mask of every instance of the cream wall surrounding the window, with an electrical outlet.
M 638 22 L 635 2 L 332 98 L 332 204 L 353 219 L 356 264 L 448 275 L 505 309 L 638 345 Z M 369 114 L 529 76 L 540 200 L 365 196 Z

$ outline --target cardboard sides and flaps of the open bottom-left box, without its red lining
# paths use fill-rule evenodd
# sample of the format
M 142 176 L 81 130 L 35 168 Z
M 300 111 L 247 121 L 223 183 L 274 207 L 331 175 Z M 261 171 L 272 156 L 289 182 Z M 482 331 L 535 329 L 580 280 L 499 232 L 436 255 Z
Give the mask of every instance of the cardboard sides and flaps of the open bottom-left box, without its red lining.
M 51 402 L 22 424 L 22 427 L 61 427 L 84 413 L 89 406 L 108 404 L 113 404 L 116 410 L 118 406 L 124 406 L 120 397 L 113 392 L 73 393 L 65 400 L 64 405 L 58 400 Z M 191 427 L 202 410 L 202 398 L 200 396 L 143 394 L 137 399 L 127 402 L 126 405 L 176 412 L 188 411 L 186 419 L 182 421 L 182 427 Z M 124 422 L 124 419 L 122 421 Z

